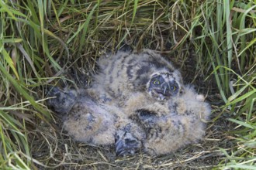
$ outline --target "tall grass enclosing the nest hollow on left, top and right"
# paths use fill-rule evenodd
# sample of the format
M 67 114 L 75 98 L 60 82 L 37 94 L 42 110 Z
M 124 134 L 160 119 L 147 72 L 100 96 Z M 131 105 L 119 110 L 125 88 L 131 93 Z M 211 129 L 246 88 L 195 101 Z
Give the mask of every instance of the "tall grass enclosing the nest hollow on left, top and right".
M 94 71 L 95 59 L 123 42 L 181 66 L 195 53 L 195 75 L 214 77 L 219 107 L 235 127 L 226 134 L 233 147 L 220 148 L 225 157 L 216 167 L 254 168 L 254 1 L 6 0 L 0 7 L 1 169 L 33 168 L 28 133 L 50 120 L 43 87 L 65 81 L 69 68 Z

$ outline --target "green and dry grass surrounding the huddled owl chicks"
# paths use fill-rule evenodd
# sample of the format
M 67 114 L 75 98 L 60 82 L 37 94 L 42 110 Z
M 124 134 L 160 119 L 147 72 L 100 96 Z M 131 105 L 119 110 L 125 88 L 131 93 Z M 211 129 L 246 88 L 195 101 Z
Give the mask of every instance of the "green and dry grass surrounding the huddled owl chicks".
M 0 168 L 253 169 L 255 9 L 250 0 L 0 1 Z M 45 87 L 87 86 L 96 59 L 123 44 L 163 53 L 207 93 L 205 141 L 158 158 L 115 159 L 62 133 Z

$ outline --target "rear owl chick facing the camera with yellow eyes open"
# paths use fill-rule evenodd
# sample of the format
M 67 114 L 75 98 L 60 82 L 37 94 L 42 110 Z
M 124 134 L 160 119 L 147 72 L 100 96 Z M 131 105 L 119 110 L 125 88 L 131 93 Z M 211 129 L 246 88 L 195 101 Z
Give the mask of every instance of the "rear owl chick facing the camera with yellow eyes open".
M 118 52 L 102 58 L 99 60 L 100 73 L 95 75 L 92 83 L 93 93 L 99 98 L 109 96 L 108 99 L 117 98 L 123 104 L 133 92 L 145 92 L 157 100 L 168 100 L 182 91 L 181 74 L 153 50 Z M 105 93 L 99 92 L 102 90 Z

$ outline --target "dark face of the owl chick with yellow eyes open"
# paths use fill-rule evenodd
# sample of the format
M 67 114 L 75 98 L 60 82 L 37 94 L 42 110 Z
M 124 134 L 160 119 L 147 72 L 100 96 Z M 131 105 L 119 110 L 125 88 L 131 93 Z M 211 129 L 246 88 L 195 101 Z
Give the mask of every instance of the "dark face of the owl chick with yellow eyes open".
M 176 96 L 181 87 L 171 73 L 154 73 L 147 83 L 147 92 L 158 100 Z

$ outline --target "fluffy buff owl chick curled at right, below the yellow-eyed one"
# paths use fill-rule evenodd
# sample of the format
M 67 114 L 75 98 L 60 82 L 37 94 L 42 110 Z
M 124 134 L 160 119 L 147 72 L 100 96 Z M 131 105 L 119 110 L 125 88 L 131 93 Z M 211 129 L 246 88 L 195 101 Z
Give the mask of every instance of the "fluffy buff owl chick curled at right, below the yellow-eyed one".
M 142 138 L 133 136 L 134 131 L 126 131 L 126 136 L 118 138 L 119 149 L 116 153 L 126 152 L 126 143 L 142 143 L 142 150 L 150 155 L 163 155 L 184 145 L 195 143 L 205 133 L 205 122 L 211 109 L 202 101 L 202 96 L 191 87 L 185 87 L 178 97 L 160 103 L 144 93 L 136 93 L 126 102 L 125 112 L 137 123 Z M 122 131 L 117 131 L 122 134 Z M 130 136 L 132 137 L 131 140 Z M 123 145 L 123 148 L 120 145 Z M 129 153 L 127 153 L 129 154 Z

